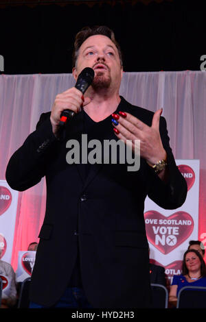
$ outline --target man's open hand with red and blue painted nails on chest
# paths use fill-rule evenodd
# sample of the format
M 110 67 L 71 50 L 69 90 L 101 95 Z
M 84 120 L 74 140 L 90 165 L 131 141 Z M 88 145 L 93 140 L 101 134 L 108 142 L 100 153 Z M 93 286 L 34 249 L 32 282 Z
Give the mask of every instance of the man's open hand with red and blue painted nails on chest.
M 114 125 L 119 132 L 119 134 L 118 132 L 115 132 L 116 136 L 123 140 L 124 143 L 126 143 L 126 140 L 133 140 L 133 151 L 135 151 L 134 140 L 140 140 L 140 156 L 144 158 L 150 166 L 153 166 L 159 160 L 165 160 L 167 157 L 159 134 L 159 119 L 161 112 L 162 110 L 157 110 L 157 112 L 155 112 L 151 126 L 146 125 L 127 112 L 120 112 L 119 118 L 115 117 L 115 114 L 113 114 L 113 118 L 119 123 L 118 125 Z

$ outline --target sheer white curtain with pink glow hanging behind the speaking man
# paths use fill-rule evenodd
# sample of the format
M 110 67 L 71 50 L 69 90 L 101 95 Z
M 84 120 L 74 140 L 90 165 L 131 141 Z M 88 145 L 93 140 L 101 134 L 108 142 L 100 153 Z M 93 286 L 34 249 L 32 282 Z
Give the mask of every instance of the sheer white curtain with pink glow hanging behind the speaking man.
M 75 84 L 71 74 L 0 75 L 0 179 L 12 153 L 34 131 L 56 95 Z M 148 110 L 163 108 L 176 159 L 201 160 L 199 238 L 206 237 L 206 73 L 204 71 L 124 73 L 120 95 Z M 12 265 L 19 250 L 38 241 L 45 212 L 45 179 L 19 193 Z M 15 214 L 14 214 L 15 215 Z M 1 229 L 0 229 L 1 230 Z

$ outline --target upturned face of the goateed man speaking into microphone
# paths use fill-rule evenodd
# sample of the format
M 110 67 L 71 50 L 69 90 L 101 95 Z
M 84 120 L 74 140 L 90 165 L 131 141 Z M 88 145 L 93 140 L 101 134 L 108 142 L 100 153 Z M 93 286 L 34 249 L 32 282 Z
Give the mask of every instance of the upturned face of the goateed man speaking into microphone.
M 95 35 L 87 38 L 79 49 L 73 77 L 78 75 L 85 67 L 95 71 L 92 87 L 119 89 L 122 79 L 122 66 L 115 44 L 106 36 Z

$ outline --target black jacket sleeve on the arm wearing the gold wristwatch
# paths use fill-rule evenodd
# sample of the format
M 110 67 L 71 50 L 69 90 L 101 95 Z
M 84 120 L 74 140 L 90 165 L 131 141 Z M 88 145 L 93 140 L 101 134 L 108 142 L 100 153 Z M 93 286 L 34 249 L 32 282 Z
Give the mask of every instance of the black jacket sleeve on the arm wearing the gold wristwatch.
M 168 181 L 163 182 L 155 171 L 148 166 L 148 197 L 161 208 L 176 209 L 185 202 L 187 183 L 176 166 L 172 149 L 170 148 L 166 121 L 163 117 L 160 120 L 159 131 L 163 147 L 167 153 Z

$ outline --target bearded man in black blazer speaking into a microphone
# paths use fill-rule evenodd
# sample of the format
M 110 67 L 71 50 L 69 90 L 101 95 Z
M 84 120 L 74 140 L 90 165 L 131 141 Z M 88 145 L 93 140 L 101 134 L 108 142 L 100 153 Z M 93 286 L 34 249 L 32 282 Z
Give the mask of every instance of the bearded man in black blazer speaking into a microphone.
M 47 182 L 30 307 L 149 308 L 144 201 L 148 195 L 162 208 L 179 208 L 187 185 L 161 110 L 154 114 L 119 96 L 122 53 L 108 27 L 86 27 L 76 35 L 73 77 L 85 68 L 94 77 L 84 95 L 76 86 L 57 95 L 52 112 L 41 115 L 6 171 L 16 190 L 44 176 Z M 62 125 L 65 110 L 74 116 Z M 76 158 L 69 164 L 68 142 L 78 142 L 82 151 L 82 134 L 89 153 L 93 140 L 102 143 L 102 157 L 105 140 L 130 143 L 133 154 L 140 141 L 139 170 L 128 171 L 120 152 L 116 164 Z

